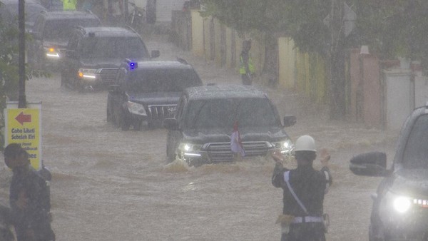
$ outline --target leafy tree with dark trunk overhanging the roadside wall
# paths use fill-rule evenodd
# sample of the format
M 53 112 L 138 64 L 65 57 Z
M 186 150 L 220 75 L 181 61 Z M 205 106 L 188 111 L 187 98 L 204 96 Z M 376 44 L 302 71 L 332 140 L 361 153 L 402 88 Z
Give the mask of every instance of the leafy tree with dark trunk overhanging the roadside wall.
M 426 0 L 202 0 L 207 12 L 237 31 L 286 33 L 302 52 L 330 65 L 330 118 L 346 114 L 345 53 L 369 45 L 380 58 L 421 60 L 428 67 Z M 344 4 L 356 11 L 356 28 L 344 34 Z

